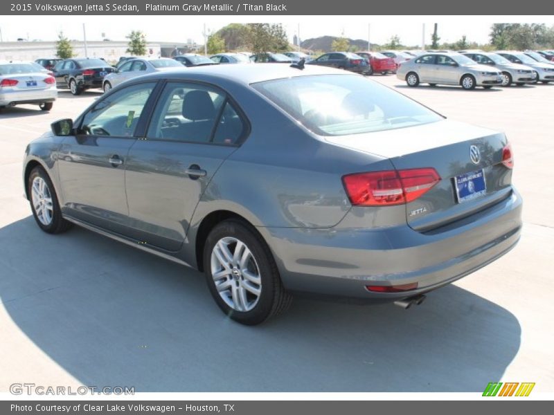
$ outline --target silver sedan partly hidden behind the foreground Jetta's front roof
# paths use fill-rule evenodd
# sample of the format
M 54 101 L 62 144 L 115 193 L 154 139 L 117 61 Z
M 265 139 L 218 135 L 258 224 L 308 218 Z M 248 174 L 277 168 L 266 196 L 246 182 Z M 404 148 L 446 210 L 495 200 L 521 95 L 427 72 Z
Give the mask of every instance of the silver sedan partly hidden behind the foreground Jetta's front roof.
M 157 59 L 129 59 L 116 71 L 106 75 L 102 83 L 102 89 L 104 92 L 107 92 L 121 82 L 131 80 L 134 77 L 147 73 L 166 71 L 168 69 L 175 70 L 175 68 L 183 68 L 183 65 L 181 62 L 169 59 L 168 57 L 159 57 Z

